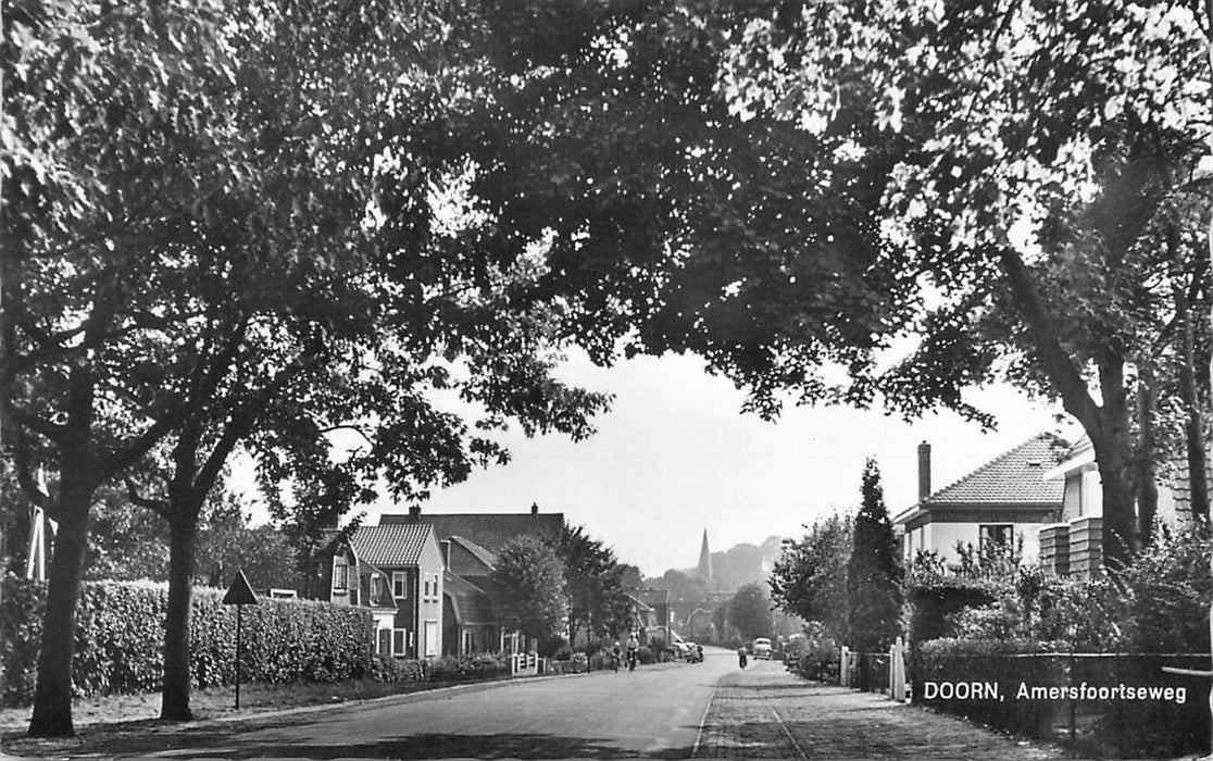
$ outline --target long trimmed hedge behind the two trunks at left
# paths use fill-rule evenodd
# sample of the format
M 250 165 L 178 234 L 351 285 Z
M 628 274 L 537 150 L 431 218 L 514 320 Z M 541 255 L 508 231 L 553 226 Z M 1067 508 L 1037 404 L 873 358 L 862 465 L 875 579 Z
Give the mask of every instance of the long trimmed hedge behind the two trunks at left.
M 235 678 L 235 608 L 221 590 L 195 589 L 190 615 L 195 687 Z M 0 589 L 5 705 L 33 700 L 46 584 L 6 575 Z M 169 589 L 150 581 L 92 581 L 81 589 L 72 660 L 76 697 L 152 692 L 164 668 Z M 258 600 L 245 606 L 241 678 L 332 682 L 372 675 L 370 612 L 323 602 Z

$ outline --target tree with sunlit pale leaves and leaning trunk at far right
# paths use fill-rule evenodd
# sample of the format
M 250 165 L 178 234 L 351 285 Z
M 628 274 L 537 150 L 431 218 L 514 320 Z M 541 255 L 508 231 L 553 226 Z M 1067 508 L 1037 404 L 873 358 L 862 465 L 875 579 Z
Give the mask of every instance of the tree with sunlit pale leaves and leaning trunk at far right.
M 869 239 L 879 267 L 923 286 L 901 294 L 919 302 L 907 325 L 921 341 L 865 382 L 915 414 L 975 415 L 961 392 L 1000 373 L 1060 399 L 1094 444 L 1114 563 L 1157 456 L 1151 376 L 1186 386 L 1179 418 L 1201 409 L 1205 13 L 1178 0 L 771 4 L 739 29 L 723 80 L 735 113 L 883 163 Z

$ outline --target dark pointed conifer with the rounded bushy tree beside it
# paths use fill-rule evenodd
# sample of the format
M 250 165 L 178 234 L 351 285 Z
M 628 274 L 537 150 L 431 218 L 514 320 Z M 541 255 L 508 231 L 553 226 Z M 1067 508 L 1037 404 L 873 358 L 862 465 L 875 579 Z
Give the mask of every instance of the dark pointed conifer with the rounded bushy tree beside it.
M 879 652 L 901 632 L 896 536 L 875 460 L 864 467 L 862 504 L 853 519 L 832 515 L 784 543 L 771 570 L 775 604 L 820 624 L 824 636 Z

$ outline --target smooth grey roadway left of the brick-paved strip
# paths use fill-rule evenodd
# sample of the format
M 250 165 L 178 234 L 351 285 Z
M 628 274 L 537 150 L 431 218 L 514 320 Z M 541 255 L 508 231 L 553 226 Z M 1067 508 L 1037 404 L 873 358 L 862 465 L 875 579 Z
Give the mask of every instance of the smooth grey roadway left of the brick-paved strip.
M 600 671 L 313 712 L 306 723 L 243 732 L 230 745 L 212 746 L 205 755 L 685 759 L 695 750 L 713 685 L 730 665 L 722 652 L 701 664 L 659 664 L 634 672 Z

